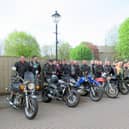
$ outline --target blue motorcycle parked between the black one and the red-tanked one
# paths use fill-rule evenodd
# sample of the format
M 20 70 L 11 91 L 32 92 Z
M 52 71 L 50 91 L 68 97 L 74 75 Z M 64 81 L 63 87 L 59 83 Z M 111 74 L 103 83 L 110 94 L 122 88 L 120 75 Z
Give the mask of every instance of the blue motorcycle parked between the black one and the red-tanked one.
M 77 82 L 70 79 L 70 85 L 76 88 L 80 95 L 90 94 L 92 101 L 99 101 L 103 97 L 103 90 L 97 81 L 95 81 L 91 75 L 82 76 L 78 78 Z

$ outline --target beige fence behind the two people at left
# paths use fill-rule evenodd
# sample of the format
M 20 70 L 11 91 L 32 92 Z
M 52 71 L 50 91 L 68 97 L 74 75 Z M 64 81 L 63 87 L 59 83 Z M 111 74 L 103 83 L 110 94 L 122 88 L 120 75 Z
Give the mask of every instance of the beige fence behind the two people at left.
M 11 77 L 11 67 L 19 60 L 18 57 L 0 57 L 0 93 L 5 93 Z M 29 61 L 30 59 L 27 59 Z M 45 62 L 39 59 L 41 66 Z

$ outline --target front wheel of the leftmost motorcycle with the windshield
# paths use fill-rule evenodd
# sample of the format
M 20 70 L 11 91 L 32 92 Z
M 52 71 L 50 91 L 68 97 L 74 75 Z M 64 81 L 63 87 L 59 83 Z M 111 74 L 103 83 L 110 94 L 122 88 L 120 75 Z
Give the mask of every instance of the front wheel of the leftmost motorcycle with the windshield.
M 28 106 L 25 104 L 24 113 L 27 119 L 32 120 L 38 113 L 38 102 L 36 99 L 29 97 Z

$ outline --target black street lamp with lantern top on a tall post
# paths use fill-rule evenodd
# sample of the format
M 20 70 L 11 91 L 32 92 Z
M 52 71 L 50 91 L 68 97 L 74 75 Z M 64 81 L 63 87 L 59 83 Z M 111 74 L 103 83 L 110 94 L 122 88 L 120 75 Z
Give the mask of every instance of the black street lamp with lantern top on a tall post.
M 58 22 L 60 21 L 61 15 L 55 11 L 55 13 L 52 15 L 53 22 L 56 25 L 56 60 L 58 60 Z

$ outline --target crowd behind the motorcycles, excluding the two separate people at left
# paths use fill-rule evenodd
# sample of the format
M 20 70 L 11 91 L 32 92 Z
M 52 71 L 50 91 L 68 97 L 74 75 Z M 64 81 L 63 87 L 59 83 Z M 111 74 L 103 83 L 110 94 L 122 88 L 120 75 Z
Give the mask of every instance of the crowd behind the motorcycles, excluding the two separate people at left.
M 61 78 L 62 75 L 69 75 L 77 79 L 79 76 L 88 74 L 92 74 L 94 77 L 98 78 L 101 77 L 104 72 L 118 77 L 128 77 L 129 62 L 120 61 L 111 64 L 110 61 L 103 63 L 102 61 L 92 60 L 90 64 L 88 64 L 86 60 L 82 62 L 49 60 L 43 66 L 44 79 L 49 78 L 53 73 L 59 78 Z

